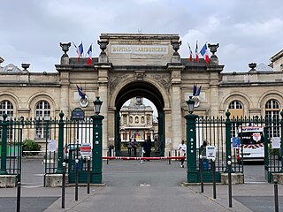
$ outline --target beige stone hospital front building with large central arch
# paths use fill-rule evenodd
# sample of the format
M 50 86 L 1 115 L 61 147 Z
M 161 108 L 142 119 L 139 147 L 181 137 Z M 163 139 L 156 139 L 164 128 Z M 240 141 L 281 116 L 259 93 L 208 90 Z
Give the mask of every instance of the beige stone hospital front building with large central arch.
M 28 64 L 23 64 L 23 69 L 13 64 L 0 67 L 0 113 L 48 119 L 58 117 L 60 111 L 70 117 L 73 109 L 81 107 L 90 117 L 94 114 L 92 102 L 100 96 L 105 154 L 110 145 L 119 150 L 123 104 L 144 97 L 157 107 L 158 139 L 164 155 L 186 139 L 186 100 L 194 84 L 202 87 L 195 105 L 200 117 L 225 116 L 228 109 L 233 116 L 279 117 L 283 109 L 281 52 L 272 57 L 273 69 L 251 64 L 249 72 L 223 72 L 218 45 L 210 45 L 209 64 L 203 59 L 189 62 L 178 53 L 178 34 L 101 34 L 98 44 L 102 51 L 92 65 L 86 58 L 78 63 L 77 58 L 68 57 L 71 43 L 61 43 L 65 53 L 55 64 L 57 72 L 28 72 Z M 87 102 L 80 101 L 77 85 L 88 96 Z M 44 142 L 44 129 L 37 128 L 28 136 Z

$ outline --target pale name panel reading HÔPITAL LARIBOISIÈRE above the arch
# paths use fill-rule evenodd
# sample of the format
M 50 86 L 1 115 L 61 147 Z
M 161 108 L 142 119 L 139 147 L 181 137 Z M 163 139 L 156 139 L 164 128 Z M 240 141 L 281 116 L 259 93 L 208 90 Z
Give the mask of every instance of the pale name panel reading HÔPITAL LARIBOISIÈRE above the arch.
M 168 52 L 165 45 L 111 45 L 112 54 L 165 55 Z

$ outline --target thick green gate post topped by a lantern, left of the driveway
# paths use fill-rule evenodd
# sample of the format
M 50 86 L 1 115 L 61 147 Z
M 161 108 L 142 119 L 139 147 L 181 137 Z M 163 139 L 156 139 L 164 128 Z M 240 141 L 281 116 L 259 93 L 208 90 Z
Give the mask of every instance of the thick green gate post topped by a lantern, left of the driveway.
M 93 119 L 93 148 L 92 148 L 92 171 L 91 171 L 91 183 L 101 184 L 102 183 L 102 148 L 103 148 L 103 116 L 99 115 L 101 105 L 99 96 L 94 101 L 94 110 L 96 115 L 92 116 Z

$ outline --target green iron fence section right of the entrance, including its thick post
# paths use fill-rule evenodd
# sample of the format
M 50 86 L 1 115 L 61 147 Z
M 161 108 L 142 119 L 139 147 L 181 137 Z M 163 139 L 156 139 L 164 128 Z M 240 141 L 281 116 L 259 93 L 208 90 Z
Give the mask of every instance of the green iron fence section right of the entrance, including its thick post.
M 216 180 L 220 181 L 221 173 L 228 170 L 227 161 L 232 162 L 234 173 L 243 173 L 243 142 L 240 148 L 233 148 L 232 139 L 238 137 L 241 127 L 264 127 L 264 174 L 268 182 L 272 182 L 276 173 L 283 173 L 283 111 L 281 118 L 264 117 L 232 117 L 226 112 L 226 117 L 198 117 L 187 115 L 187 181 L 200 182 L 200 155 L 203 153 L 203 140 L 208 145 L 216 147 Z M 194 141 L 195 140 L 195 141 Z M 280 146 L 274 148 L 272 140 L 279 140 Z M 258 145 L 257 145 L 258 146 Z M 251 148 L 256 148 L 251 147 Z M 203 181 L 211 182 L 211 162 L 203 160 Z

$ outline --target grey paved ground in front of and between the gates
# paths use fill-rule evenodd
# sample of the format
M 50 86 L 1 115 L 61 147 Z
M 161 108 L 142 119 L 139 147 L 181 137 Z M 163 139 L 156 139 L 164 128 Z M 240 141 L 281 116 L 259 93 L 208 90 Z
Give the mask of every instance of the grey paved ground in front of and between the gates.
M 233 185 L 233 207 L 228 207 L 228 186 L 217 185 L 217 199 L 212 199 L 212 185 L 185 186 L 186 169 L 180 163 L 110 162 L 103 163 L 105 186 L 79 187 L 74 201 L 74 187 L 66 187 L 65 209 L 61 208 L 61 188 L 22 187 L 21 212 L 97 211 L 97 212 L 184 212 L 184 211 L 274 211 L 272 184 Z M 0 211 L 16 208 L 16 188 L 0 189 Z M 279 185 L 279 211 L 283 208 L 283 186 Z

